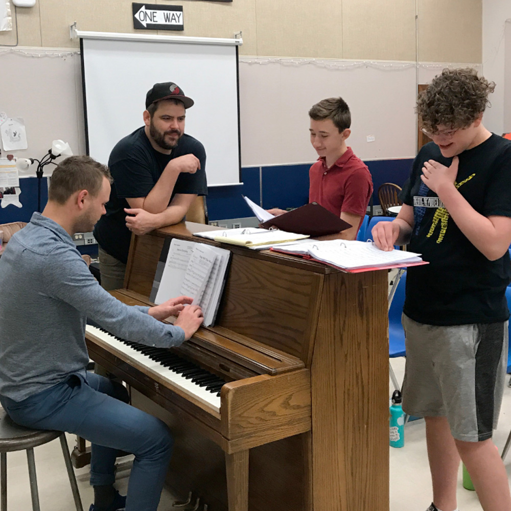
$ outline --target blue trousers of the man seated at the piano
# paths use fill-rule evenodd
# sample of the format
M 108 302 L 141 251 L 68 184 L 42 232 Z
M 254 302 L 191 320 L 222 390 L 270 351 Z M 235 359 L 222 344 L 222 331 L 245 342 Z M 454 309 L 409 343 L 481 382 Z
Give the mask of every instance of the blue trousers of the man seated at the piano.
M 73 375 L 23 401 L 0 396 L 0 402 L 17 424 L 89 440 L 94 486 L 113 484 L 118 450 L 133 453 L 126 511 L 156 511 L 172 455 L 169 428 L 127 404 L 128 393 L 121 384 L 93 373 L 85 378 Z

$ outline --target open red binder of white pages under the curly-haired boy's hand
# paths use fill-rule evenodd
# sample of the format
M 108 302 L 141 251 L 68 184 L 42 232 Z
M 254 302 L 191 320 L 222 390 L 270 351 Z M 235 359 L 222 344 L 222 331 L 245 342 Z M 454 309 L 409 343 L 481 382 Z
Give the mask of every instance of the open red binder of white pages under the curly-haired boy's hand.
M 343 270 L 361 268 L 389 268 L 425 264 L 421 254 L 405 250 L 380 250 L 373 242 L 330 240 L 311 243 L 287 244 L 275 247 L 279 252 L 309 255 Z

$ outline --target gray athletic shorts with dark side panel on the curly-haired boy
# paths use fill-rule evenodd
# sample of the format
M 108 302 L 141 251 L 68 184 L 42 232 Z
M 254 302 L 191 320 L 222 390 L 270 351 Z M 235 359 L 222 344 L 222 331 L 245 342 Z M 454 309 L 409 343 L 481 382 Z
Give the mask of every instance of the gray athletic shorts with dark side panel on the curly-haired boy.
M 403 410 L 447 417 L 454 438 L 492 437 L 507 369 L 507 321 L 437 327 L 402 316 L 406 336 Z

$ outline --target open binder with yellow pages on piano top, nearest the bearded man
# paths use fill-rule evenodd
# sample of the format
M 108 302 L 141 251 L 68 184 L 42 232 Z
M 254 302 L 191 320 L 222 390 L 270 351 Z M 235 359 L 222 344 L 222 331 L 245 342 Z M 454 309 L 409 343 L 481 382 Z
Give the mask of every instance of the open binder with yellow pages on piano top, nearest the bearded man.
M 268 230 L 258 227 L 246 227 L 239 229 L 208 230 L 205 233 L 194 233 L 194 236 L 209 238 L 220 243 L 230 243 L 245 247 L 257 247 L 259 245 L 273 245 L 289 241 L 301 240 L 309 236 L 304 234 L 287 233 L 284 230 Z

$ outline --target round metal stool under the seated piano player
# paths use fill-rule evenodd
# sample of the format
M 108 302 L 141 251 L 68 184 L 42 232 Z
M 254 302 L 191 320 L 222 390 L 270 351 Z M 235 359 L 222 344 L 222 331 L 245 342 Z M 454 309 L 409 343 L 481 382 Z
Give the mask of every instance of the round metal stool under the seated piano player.
M 32 509 L 33 511 L 40 511 L 35 473 L 34 447 L 47 444 L 58 437 L 60 437 L 60 444 L 62 446 L 62 453 L 64 454 L 67 475 L 71 483 L 71 490 L 73 491 L 73 497 L 75 499 L 76 510 L 83 511 L 75 473 L 73 472 L 71 464 L 71 457 L 69 456 L 69 450 L 67 448 L 65 433 L 18 426 L 3 409 L 0 409 L 0 511 L 7 511 L 7 453 L 21 450 L 27 451 Z

